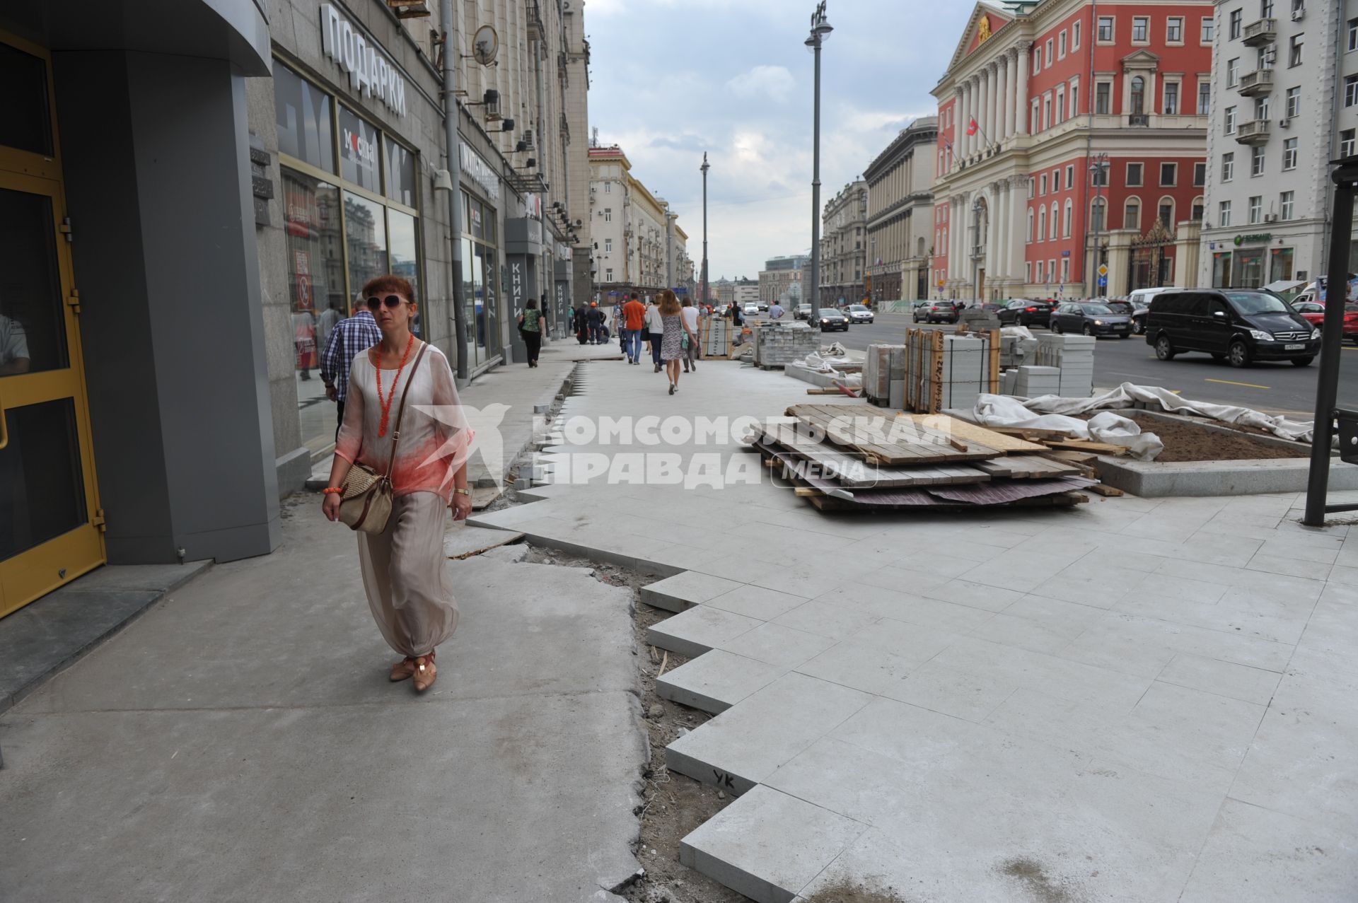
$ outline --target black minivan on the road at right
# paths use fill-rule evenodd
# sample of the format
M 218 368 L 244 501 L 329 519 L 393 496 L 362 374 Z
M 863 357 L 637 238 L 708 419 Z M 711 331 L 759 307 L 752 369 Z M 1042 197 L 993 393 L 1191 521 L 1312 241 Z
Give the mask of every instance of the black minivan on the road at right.
M 1320 353 L 1320 330 L 1263 289 L 1175 289 L 1150 301 L 1146 344 L 1162 361 L 1180 352 L 1207 352 L 1232 367 L 1253 361 L 1306 367 Z

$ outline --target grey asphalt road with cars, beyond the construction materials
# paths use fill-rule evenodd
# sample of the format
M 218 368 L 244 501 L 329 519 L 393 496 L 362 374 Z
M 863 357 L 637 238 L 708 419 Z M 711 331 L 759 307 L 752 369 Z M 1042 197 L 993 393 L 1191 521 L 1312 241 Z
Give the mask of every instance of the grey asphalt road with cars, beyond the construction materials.
M 914 326 L 909 314 L 879 314 L 872 326 L 850 326 L 847 333 L 826 333 L 823 344 L 838 341 L 845 348 L 866 350 L 868 345 L 899 344 L 906 329 Z M 925 326 L 942 329 L 952 326 Z M 1044 333 L 1033 329 L 1035 334 Z M 1339 375 L 1340 406 L 1358 407 L 1358 346 L 1344 345 Z M 1236 369 L 1217 363 L 1207 354 L 1180 354 L 1172 361 L 1156 360 L 1156 353 L 1141 335 L 1130 338 L 1101 338 L 1095 349 L 1095 386 L 1114 387 L 1119 383 L 1162 386 L 1184 398 L 1243 405 L 1274 414 L 1310 418 L 1316 405 L 1316 377 L 1319 361 L 1310 367 L 1287 363 L 1262 363 Z

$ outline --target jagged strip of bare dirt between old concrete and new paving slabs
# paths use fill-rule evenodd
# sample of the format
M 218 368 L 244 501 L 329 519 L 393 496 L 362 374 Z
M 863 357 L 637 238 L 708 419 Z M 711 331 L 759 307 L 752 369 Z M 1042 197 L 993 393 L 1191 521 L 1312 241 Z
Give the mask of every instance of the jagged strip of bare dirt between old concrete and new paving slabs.
M 675 774 L 665 767 L 665 747 L 679 736 L 706 722 L 712 716 L 656 695 L 656 676 L 661 664 L 664 664 L 665 671 L 671 671 L 687 661 L 683 656 L 672 652 L 667 660 L 661 650 L 646 642 L 646 627 L 674 616 L 671 611 L 653 608 L 641 602 L 641 588 L 655 583 L 659 577 L 538 546 L 530 549 L 524 561 L 568 568 L 592 568 L 596 580 L 615 587 L 627 587 L 631 591 L 633 630 L 637 638 L 634 655 L 637 656 L 641 683 L 641 710 L 646 716 L 645 728 L 650 744 L 650 760 L 642 773 L 645 789 L 642 790 L 642 803 L 637 809 L 641 819 L 641 839 L 634 850 L 645 874 L 621 889 L 619 893 L 631 903 L 748 903 L 743 895 L 679 862 L 679 841 L 727 808 L 733 797 L 693 778 Z M 823 899 L 838 900 L 841 898 Z M 843 899 L 856 903 L 860 900 L 860 898 Z M 861 898 L 861 900 L 862 903 L 900 903 L 895 898 L 868 896 Z

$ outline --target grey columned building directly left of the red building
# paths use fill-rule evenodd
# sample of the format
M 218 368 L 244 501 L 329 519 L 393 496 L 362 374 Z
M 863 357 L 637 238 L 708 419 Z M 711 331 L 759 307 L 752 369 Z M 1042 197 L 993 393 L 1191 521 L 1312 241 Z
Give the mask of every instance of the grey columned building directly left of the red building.
M 929 297 L 938 117 L 915 119 L 864 170 L 873 306 Z

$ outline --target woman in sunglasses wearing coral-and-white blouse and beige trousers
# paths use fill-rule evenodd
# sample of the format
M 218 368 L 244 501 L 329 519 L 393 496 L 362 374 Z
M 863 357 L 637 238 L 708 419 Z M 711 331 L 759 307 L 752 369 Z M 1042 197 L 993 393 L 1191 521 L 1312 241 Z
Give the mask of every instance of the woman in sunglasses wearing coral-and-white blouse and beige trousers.
M 340 517 L 341 487 L 354 463 L 390 477 L 391 516 L 380 534 L 356 531 L 359 565 L 378 629 L 403 656 L 391 667 L 391 680 L 414 678 L 416 691 L 424 693 L 439 675 L 435 648 L 458 629 L 443 534 L 449 506 L 454 520 L 471 513 L 473 432 L 448 358 L 410 331 L 417 311 L 410 282 L 379 276 L 363 295 L 382 341 L 353 358 L 322 509 L 330 520 Z M 397 398 L 401 407 L 392 410 Z

